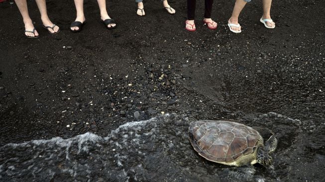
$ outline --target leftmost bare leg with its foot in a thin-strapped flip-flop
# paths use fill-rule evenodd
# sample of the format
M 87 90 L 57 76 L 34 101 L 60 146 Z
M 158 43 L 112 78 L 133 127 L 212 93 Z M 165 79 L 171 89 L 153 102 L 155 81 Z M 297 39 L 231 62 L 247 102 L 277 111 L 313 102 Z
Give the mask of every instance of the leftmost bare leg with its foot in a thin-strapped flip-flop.
M 28 14 L 28 8 L 27 8 L 27 2 L 26 0 L 15 0 L 18 9 L 20 11 L 20 14 L 22 16 L 22 19 L 25 24 L 25 30 L 30 30 L 32 31 L 34 29 L 33 21 L 30 19 L 29 14 Z M 38 36 L 38 32 L 35 30 L 35 35 L 31 32 L 25 32 L 25 35 L 29 37 L 34 37 Z

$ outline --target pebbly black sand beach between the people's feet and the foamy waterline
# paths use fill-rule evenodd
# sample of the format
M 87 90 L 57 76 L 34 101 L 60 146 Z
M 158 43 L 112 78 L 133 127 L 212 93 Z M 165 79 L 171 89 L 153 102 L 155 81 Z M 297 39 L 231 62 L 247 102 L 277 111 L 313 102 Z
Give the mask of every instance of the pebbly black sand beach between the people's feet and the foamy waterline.
M 159 1 L 145 1 L 145 17 L 135 14 L 131 0 L 108 1 L 118 26 L 113 30 L 99 22 L 97 3 L 85 2 L 88 23 L 72 33 L 73 1 L 48 1 L 49 16 L 62 29 L 53 36 L 28 1 L 41 35 L 32 40 L 23 36 L 16 5 L 0 3 L 1 145 L 87 131 L 106 136 L 122 123 L 162 111 L 193 120 L 272 111 L 302 121 L 302 164 L 313 156 L 324 161 L 322 0 L 275 1 L 275 29 L 259 22 L 262 3 L 253 1 L 241 14 L 240 34 L 226 26 L 229 1 L 214 5 L 216 31 L 203 26 L 198 4 L 196 32 L 184 29 L 185 0 L 170 0 L 175 15 Z M 324 165 L 317 169 L 306 168 L 295 179 L 322 179 Z

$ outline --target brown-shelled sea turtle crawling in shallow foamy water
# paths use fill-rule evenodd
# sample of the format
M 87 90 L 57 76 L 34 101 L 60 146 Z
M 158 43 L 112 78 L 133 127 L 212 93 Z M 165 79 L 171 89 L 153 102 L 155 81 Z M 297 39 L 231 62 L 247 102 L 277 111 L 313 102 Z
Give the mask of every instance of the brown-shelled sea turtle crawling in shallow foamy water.
M 191 122 L 189 135 L 190 142 L 199 155 L 229 166 L 255 163 L 271 166 L 273 160 L 269 154 L 274 152 L 278 143 L 273 133 L 270 133 L 264 145 L 259 132 L 231 120 Z

